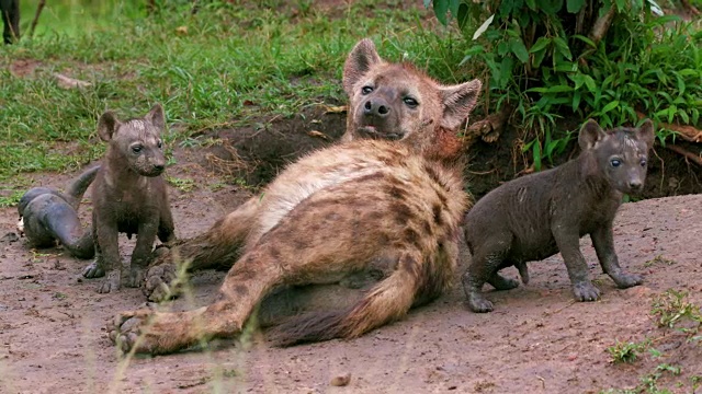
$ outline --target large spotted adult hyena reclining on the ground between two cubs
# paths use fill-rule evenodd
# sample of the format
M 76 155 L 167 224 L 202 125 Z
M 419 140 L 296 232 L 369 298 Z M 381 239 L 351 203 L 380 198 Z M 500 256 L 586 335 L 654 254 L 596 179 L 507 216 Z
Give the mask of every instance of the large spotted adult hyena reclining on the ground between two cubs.
M 260 196 L 160 258 L 196 268 L 228 262 L 218 300 L 188 312 L 121 314 L 110 337 L 124 350 L 163 354 L 234 337 L 281 289 L 373 278 L 356 302 L 298 315 L 275 333 L 285 345 L 355 337 L 451 283 L 468 198 L 450 155 L 480 82 L 441 85 L 383 61 L 364 39 L 347 59 L 343 88 L 347 142 L 291 164 Z

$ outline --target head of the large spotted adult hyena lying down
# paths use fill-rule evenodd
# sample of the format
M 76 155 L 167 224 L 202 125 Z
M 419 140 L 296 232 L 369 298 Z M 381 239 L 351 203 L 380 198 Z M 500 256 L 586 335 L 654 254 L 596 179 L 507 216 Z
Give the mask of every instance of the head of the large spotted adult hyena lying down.
M 342 140 L 400 140 L 430 157 L 452 157 L 480 86 L 478 80 L 442 85 L 409 63 L 384 61 L 373 42 L 362 39 L 343 67 L 349 113 Z

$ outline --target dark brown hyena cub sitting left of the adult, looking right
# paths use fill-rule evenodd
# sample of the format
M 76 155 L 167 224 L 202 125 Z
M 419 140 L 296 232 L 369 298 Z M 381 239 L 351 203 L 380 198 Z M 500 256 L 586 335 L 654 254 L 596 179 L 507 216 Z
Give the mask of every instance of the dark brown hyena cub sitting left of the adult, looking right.
M 114 113 L 105 112 L 98 123 L 98 134 L 109 146 L 92 188 L 95 259 L 83 269 L 86 278 L 106 275 L 98 292 L 106 293 L 122 286 L 120 232 L 129 239 L 137 234 L 129 274 L 124 281 L 128 287 L 143 282 L 156 236 L 161 242 L 174 240 L 173 219 L 161 177 L 166 169 L 160 138 L 163 127 L 163 108 L 159 104 L 143 118 L 121 121 Z

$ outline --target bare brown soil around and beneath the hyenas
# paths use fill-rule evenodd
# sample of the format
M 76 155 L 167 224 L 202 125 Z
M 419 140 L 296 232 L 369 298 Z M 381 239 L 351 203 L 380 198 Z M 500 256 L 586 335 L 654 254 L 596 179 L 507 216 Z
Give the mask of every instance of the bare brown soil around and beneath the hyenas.
M 305 115 L 212 132 L 200 138 L 201 147 L 177 148 L 168 175 L 191 188 L 170 189 L 178 236 L 206 230 L 254 192 L 246 185 L 264 184 L 285 162 L 331 143 L 343 129 L 343 114 L 325 115 L 318 107 Z M 496 151 L 509 151 L 509 143 L 492 146 L 492 155 L 488 148 L 471 151 L 471 171 L 509 165 L 489 160 Z M 508 158 L 505 152 L 499 154 Z M 468 174 L 472 185 L 495 186 L 476 183 L 482 175 L 475 173 Z M 76 175 L 31 176 L 33 186 L 63 187 Z M 598 302 L 573 301 L 565 266 L 554 256 L 530 265 L 529 286 L 486 287 L 496 304 L 489 314 L 469 312 L 456 286 L 407 318 L 353 340 L 279 349 L 254 332 L 242 341 L 135 359 L 118 354 L 104 327 L 118 311 L 144 303 L 140 290 L 98 294 L 95 281 L 80 277 L 88 262 L 61 248 L 33 251 L 24 240 L 13 241 L 16 219 L 14 208 L 0 210 L 0 393 L 597 393 L 634 387 L 664 362 L 679 366 L 681 374 L 663 374 L 658 386 L 693 393 L 691 380 L 702 376 L 702 346 L 658 328 L 650 316 L 652 299 L 667 289 L 688 291 L 691 302 L 702 304 L 702 195 L 621 209 L 614 230 L 620 260 L 645 276 L 643 286 L 616 289 L 601 273 L 589 240 L 582 240 L 591 277 L 603 291 Z M 121 235 L 121 245 L 126 262 L 134 240 Z M 468 258 L 464 253 L 462 263 Z M 518 277 L 516 270 L 507 275 Z M 210 302 L 222 277 L 195 275 L 193 297 L 174 302 L 179 308 Z M 607 348 L 616 340 L 645 338 L 663 358 L 644 354 L 632 364 L 611 362 Z M 332 385 L 347 374 L 348 386 Z

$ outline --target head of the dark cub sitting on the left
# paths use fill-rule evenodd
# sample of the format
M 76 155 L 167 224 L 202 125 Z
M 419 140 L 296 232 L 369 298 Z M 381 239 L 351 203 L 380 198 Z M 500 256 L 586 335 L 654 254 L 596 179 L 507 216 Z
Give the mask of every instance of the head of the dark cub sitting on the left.
M 107 111 L 100 117 L 98 135 L 107 141 L 109 157 L 118 158 L 118 165 L 143 176 L 158 176 L 166 169 L 161 130 L 165 127 L 163 108 L 156 104 L 143 118 L 125 121 Z

